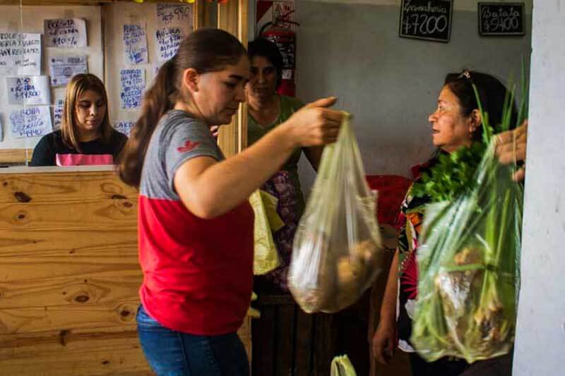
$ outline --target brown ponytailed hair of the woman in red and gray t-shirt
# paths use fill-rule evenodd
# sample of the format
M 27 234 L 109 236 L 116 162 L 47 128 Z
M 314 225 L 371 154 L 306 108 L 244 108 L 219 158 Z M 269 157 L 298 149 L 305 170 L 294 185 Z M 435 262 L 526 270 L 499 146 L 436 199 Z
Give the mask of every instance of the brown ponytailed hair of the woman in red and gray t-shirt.
M 221 71 L 235 65 L 246 56 L 245 47 L 229 32 L 219 29 L 200 29 L 181 42 L 177 54 L 159 68 L 157 77 L 143 96 L 141 116 L 121 151 L 118 174 L 124 183 L 139 187 L 145 153 L 161 116 L 174 107 L 179 95 L 182 73 L 194 68 L 198 73 Z

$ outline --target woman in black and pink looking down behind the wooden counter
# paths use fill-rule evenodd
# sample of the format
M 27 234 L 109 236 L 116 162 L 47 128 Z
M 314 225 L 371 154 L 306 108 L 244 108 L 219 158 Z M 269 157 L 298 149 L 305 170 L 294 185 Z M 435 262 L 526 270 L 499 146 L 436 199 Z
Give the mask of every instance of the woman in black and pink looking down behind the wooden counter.
M 75 75 L 66 87 L 61 129 L 44 135 L 30 166 L 114 164 L 127 137 L 110 125 L 108 96 L 95 75 Z

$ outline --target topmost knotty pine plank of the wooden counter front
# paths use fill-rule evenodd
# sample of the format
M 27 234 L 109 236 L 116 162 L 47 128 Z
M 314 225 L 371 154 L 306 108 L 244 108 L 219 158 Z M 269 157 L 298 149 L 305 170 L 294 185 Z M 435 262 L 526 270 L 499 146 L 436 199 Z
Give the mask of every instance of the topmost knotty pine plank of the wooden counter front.
M 0 202 L 88 201 L 124 197 L 137 199 L 135 188 L 121 183 L 112 171 L 0 174 Z

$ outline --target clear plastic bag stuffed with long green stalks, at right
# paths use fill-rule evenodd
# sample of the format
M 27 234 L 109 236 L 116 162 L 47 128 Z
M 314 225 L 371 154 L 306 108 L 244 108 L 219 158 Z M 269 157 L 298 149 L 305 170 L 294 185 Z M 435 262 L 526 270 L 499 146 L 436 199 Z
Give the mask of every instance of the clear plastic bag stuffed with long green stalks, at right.
M 523 208 L 513 171 L 492 142 L 467 193 L 426 207 L 410 341 L 428 361 L 472 363 L 513 344 Z

